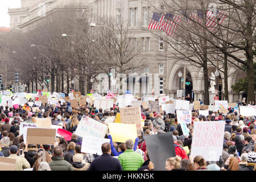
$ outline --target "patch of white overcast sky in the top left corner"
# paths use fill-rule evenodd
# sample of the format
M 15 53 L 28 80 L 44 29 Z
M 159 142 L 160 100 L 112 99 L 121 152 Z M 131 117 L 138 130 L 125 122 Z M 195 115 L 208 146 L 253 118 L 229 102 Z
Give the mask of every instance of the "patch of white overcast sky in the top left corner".
M 0 27 L 10 27 L 9 8 L 20 7 L 20 0 L 0 0 Z

